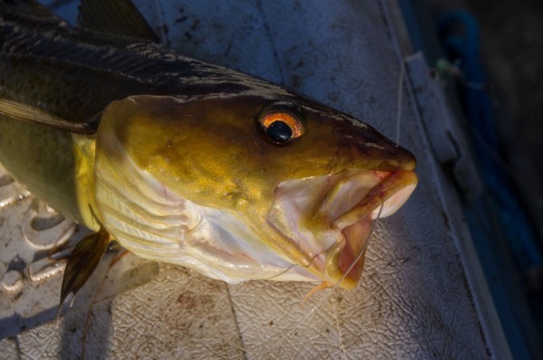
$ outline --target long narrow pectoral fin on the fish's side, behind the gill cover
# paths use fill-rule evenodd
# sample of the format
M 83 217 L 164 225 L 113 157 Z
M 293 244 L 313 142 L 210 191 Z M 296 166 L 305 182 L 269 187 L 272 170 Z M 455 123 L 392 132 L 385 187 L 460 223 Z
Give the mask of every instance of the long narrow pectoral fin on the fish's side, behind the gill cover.
M 0 114 L 20 121 L 42 124 L 49 128 L 58 128 L 77 134 L 95 134 L 97 125 L 89 122 L 71 122 L 43 109 L 11 99 L 0 99 Z

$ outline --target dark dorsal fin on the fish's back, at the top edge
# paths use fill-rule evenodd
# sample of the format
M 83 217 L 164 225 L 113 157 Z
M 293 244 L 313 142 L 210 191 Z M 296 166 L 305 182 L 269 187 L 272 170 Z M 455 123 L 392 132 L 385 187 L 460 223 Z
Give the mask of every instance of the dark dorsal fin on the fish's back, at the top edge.
M 160 43 L 130 0 L 81 0 L 77 25 L 99 33 L 115 33 Z

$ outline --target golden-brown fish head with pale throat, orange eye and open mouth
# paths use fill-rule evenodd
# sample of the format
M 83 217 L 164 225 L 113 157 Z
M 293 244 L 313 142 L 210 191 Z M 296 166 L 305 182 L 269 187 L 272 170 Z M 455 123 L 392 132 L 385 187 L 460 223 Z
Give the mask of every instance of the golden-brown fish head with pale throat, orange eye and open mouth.
M 109 173 L 100 166 L 106 158 Z M 154 199 L 131 200 L 138 203 L 129 205 L 132 212 L 164 194 L 194 204 L 198 221 L 178 235 L 177 249 L 206 263 L 193 268 L 232 282 L 341 279 L 341 287 L 353 288 L 363 257 L 349 267 L 365 251 L 377 213 L 394 213 L 417 183 L 414 156 L 405 148 L 355 118 L 291 94 L 115 101 L 102 115 L 96 161 L 99 190 L 100 178 L 120 172 L 132 187 L 155 189 L 148 196 Z M 113 228 L 110 197 L 98 191 L 101 221 Z M 205 216 L 220 231 L 201 235 L 195 255 L 187 239 Z M 127 225 L 120 228 L 126 232 Z M 264 269 L 270 264 L 284 272 L 271 276 Z M 260 270 L 262 277 L 255 275 Z

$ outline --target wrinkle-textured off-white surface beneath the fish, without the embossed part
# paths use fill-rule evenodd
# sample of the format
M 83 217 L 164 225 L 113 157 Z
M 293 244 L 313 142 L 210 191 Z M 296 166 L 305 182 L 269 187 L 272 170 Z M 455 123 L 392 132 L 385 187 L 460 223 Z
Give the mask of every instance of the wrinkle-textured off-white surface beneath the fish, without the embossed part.
M 401 55 L 391 24 L 394 3 L 136 4 L 176 50 L 280 82 L 396 137 Z M 73 15 L 73 9 L 68 3 L 57 10 Z M 405 207 L 376 224 L 357 289 L 334 291 L 300 326 L 323 295 L 300 305 L 311 284 L 228 286 L 160 265 L 157 276 L 136 289 L 1 340 L 0 357 L 507 356 L 506 345 L 496 346 L 500 324 L 478 282 L 461 214 L 435 167 L 408 88 L 402 114 L 399 140 L 417 157 L 420 185 Z M 6 226 L 14 225 L 3 224 L 3 233 L 13 230 Z

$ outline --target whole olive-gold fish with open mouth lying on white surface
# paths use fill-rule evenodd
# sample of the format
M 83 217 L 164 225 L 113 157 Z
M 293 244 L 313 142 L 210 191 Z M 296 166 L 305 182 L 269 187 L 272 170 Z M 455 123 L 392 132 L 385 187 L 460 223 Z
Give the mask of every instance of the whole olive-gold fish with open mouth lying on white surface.
M 129 0 L 82 0 L 76 26 L 0 3 L 0 163 L 92 231 L 61 305 L 112 241 L 228 283 L 353 289 L 375 219 L 418 181 L 375 128 L 167 49 Z

